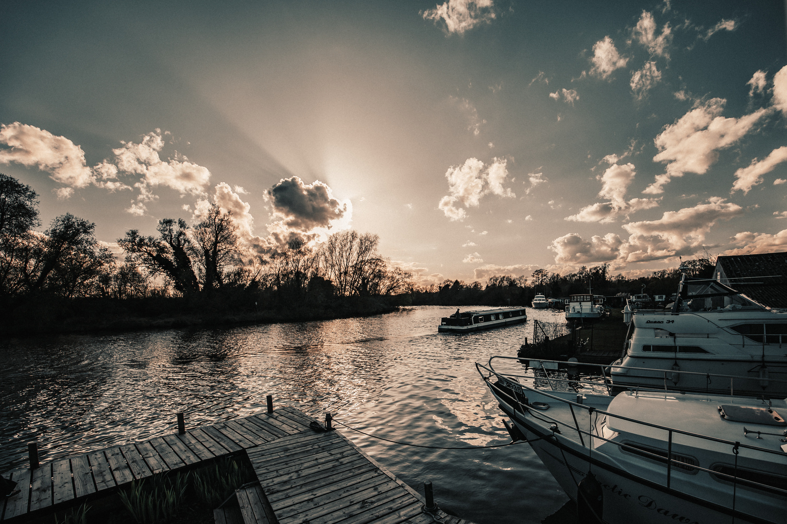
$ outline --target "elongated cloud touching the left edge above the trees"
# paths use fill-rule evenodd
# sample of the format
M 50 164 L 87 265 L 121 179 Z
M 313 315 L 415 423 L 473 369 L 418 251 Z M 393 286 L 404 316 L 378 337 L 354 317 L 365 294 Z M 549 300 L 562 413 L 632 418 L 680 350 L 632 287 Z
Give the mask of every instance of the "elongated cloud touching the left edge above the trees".
M 0 163 L 19 163 L 46 171 L 50 178 L 66 188 L 57 189 L 59 198 L 68 198 L 73 188 L 95 184 L 107 189 L 130 189 L 115 178 L 117 170 L 105 163 L 94 169 L 87 167 L 85 152 L 66 137 L 58 137 L 47 130 L 14 122 L 0 126 Z

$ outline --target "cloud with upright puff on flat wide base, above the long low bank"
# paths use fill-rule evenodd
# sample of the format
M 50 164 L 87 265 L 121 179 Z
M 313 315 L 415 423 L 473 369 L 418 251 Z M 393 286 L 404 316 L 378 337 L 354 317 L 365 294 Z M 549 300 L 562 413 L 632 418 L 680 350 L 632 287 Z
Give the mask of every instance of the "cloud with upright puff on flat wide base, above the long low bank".
M 605 160 L 617 160 L 617 156 L 605 156 Z M 621 214 L 631 214 L 634 211 L 641 209 L 650 209 L 659 205 L 659 200 L 656 199 L 640 199 L 635 198 L 626 201 L 626 190 L 632 181 L 634 175 L 637 174 L 634 170 L 633 163 L 626 163 L 622 166 L 613 164 L 604 171 L 604 174 L 597 177 L 601 182 L 601 190 L 598 196 L 608 199 L 608 202 L 594 203 L 587 207 L 583 207 L 577 214 L 572 214 L 566 217 L 565 220 L 570 222 L 600 222 L 602 224 L 608 222 L 615 222 Z

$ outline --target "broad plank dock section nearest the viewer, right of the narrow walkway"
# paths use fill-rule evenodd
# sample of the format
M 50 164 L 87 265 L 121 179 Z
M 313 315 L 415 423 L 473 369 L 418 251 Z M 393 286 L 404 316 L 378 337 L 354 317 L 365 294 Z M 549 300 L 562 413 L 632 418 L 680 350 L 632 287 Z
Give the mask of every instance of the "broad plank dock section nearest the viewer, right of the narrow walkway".
M 300 413 L 290 420 L 307 423 Z M 338 431 L 301 431 L 246 449 L 279 524 L 428 524 L 419 493 L 377 464 Z M 238 495 L 241 508 L 242 497 Z M 244 513 L 245 522 L 257 512 Z M 435 515 L 448 519 L 439 511 Z M 453 519 L 452 524 L 465 523 Z

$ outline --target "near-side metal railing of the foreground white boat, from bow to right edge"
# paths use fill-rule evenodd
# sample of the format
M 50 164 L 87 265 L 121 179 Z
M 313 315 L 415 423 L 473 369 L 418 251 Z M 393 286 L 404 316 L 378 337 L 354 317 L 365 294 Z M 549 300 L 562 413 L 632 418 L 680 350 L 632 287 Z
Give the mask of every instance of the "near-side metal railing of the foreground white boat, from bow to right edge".
M 492 367 L 492 360 L 494 358 L 521 360 L 521 359 L 517 359 L 516 357 L 492 357 L 492 358 L 490 358 L 489 366 L 483 365 L 483 364 L 480 364 L 480 363 L 476 362 L 475 363 L 475 367 L 478 370 L 478 373 L 482 376 L 482 379 L 484 379 L 484 381 L 487 383 L 487 385 L 491 389 L 497 391 L 498 394 L 501 394 L 504 397 L 508 398 L 511 401 L 510 403 L 511 403 L 512 406 L 519 406 L 519 411 L 523 412 L 523 413 L 525 413 L 525 412 L 533 412 L 533 409 L 531 409 L 530 405 L 528 404 L 527 395 L 524 393 L 523 390 L 532 390 L 534 393 L 541 394 L 541 395 L 543 395 L 543 396 L 545 396 L 547 398 L 552 398 L 552 400 L 554 400 L 554 401 L 561 402 L 561 403 L 567 405 L 569 407 L 570 411 L 571 411 L 571 418 L 574 421 L 573 425 L 571 423 L 569 423 L 569 422 L 566 422 L 565 420 L 561 420 L 561 419 L 558 419 L 556 417 L 550 416 L 548 414 L 548 412 L 541 411 L 541 410 L 538 410 L 538 417 L 541 417 L 542 420 L 543 419 L 547 419 L 547 420 L 549 420 L 552 423 L 552 427 L 550 428 L 552 430 L 552 438 L 557 439 L 556 434 L 560 434 L 560 429 L 559 428 L 561 426 L 565 427 L 565 428 L 567 428 L 567 429 L 569 429 L 571 431 L 576 431 L 577 434 L 578 434 L 578 437 L 579 437 L 580 445 L 582 445 L 583 448 L 588 449 L 588 460 L 590 460 L 590 455 L 594 451 L 593 439 L 597 439 L 597 440 L 601 440 L 603 442 L 608 442 L 610 444 L 616 445 L 620 449 L 624 449 L 624 450 L 629 451 L 629 452 L 637 453 L 638 455 L 649 456 L 653 460 L 657 460 L 659 462 L 666 461 L 666 463 L 667 463 L 667 472 L 666 472 L 665 486 L 667 486 L 667 488 L 671 488 L 672 487 L 671 484 L 672 484 L 672 469 L 673 469 L 673 467 L 674 466 L 675 467 L 686 467 L 686 464 L 684 462 L 674 458 L 676 453 L 674 453 L 673 449 L 672 449 L 674 434 L 682 434 L 682 435 L 685 435 L 687 437 L 698 438 L 700 440 L 704 440 L 704 441 L 708 441 L 708 442 L 717 442 L 717 443 L 722 444 L 722 445 L 729 445 L 730 446 L 730 453 L 732 453 L 733 456 L 735 456 L 734 464 L 736 464 L 736 466 L 735 466 L 735 470 L 733 472 L 734 473 L 733 475 L 729 475 L 729 474 L 723 473 L 722 471 L 711 470 L 711 469 L 709 469 L 707 467 L 701 467 L 699 464 L 691 464 L 691 467 L 693 469 L 696 469 L 696 470 L 699 470 L 699 471 L 704 471 L 704 472 L 708 473 L 709 475 L 714 475 L 717 478 L 723 478 L 723 479 L 725 479 L 725 480 L 727 480 L 729 482 L 732 482 L 733 486 L 743 485 L 743 486 L 748 486 L 748 487 L 754 487 L 756 489 L 762 489 L 762 490 L 765 490 L 767 492 L 777 493 L 777 494 L 779 494 L 781 496 L 787 496 L 787 489 L 781 489 L 781 488 L 779 488 L 777 486 L 770 486 L 768 484 L 763 484 L 761 482 L 756 482 L 756 481 L 752 481 L 752 480 L 747 479 L 747 478 L 740 478 L 740 477 L 737 476 L 737 454 L 740 452 L 740 449 L 751 449 L 752 451 L 756 451 L 756 452 L 759 452 L 759 453 L 767 453 L 767 454 L 774 455 L 774 456 L 784 457 L 785 453 L 783 451 L 781 451 L 781 449 L 776 451 L 776 450 L 773 450 L 773 449 L 763 448 L 763 447 L 756 446 L 756 445 L 748 445 L 748 444 L 745 444 L 743 442 L 738 442 L 738 441 L 733 442 L 733 441 L 730 441 L 730 440 L 726 440 L 724 438 L 712 437 L 711 435 L 699 434 L 699 433 L 694 433 L 692 431 L 680 430 L 680 429 L 677 429 L 677 428 L 674 428 L 674 427 L 661 426 L 660 424 L 649 423 L 649 422 L 646 422 L 644 420 L 632 419 L 632 418 L 627 417 L 627 416 L 623 416 L 623 415 L 619 415 L 619 414 L 613 414 L 611 412 L 604 411 L 603 409 L 597 409 L 597 408 L 595 408 L 593 406 L 580 404 L 580 403 L 575 402 L 575 401 L 570 401 L 570 400 L 567 400 L 566 398 L 561 398 L 561 397 L 558 397 L 556 395 L 549 394 L 548 392 L 546 392 L 544 390 L 537 390 L 535 387 L 529 387 L 529 386 L 527 386 L 527 384 L 519 382 L 519 378 L 534 379 L 535 377 L 530 377 L 530 376 L 522 377 L 522 376 L 501 374 L 499 372 L 496 372 L 493 369 L 493 367 Z M 552 362 L 555 362 L 555 361 L 552 361 Z M 486 372 L 486 374 L 485 374 L 485 372 Z M 502 381 L 506 385 L 506 387 L 510 387 L 510 389 L 512 389 L 512 391 L 514 392 L 514 396 L 512 397 L 512 395 L 510 395 L 507 392 L 505 392 L 504 390 L 502 390 L 501 387 L 499 387 L 496 383 L 493 383 L 490 380 L 493 376 L 497 377 L 498 381 Z M 554 378 L 552 378 L 552 379 L 554 379 Z M 594 383 L 594 384 L 597 384 L 597 383 Z M 517 388 L 519 388 L 519 390 L 517 390 Z M 517 392 L 523 394 L 523 396 L 525 397 L 525 401 L 521 401 L 516 396 Z M 615 419 L 618 419 L 618 420 L 625 420 L 626 422 L 639 424 L 641 426 L 646 426 L 646 427 L 652 427 L 652 428 L 655 428 L 655 429 L 661 430 L 661 431 L 666 431 L 667 432 L 667 456 L 665 457 L 665 456 L 659 455 L 657 453 L 651 453 L 651 452 L 648 452 L 645 449 L 634 448 L 633 446 L 627 445 L 627 444 L 625 444 L 623 442 L 617 442 L 617 441 L 611 440 L 610 438 L 605 438 L 602 434 L 600 434 L 599 431 L 596 431 L 594 433 L 593 432 L 593 427 L 592 427 L 594 425 L 593 422 L 590 423 L 591 427 L 589 428 L 589 430 L 586 431 L 586 430 L 582 429 L 582 427 L 579 427 L 579 423 L 578 423 L 578 419 L 577 419 L 577 416 L 576 416 L 575 409 L 580 409 L 580 410 L 584 409 L 584 410 L 586 410 L 588 412 L 589 420 L 593 420 L 593 418 L 590 415 L 593 412 L 595 412 L 595 413 L 597 413 L 597 416 L 600 415 L 600 416 L 606 416 L 606 417 L 609 417 L 609 418 L 615 418 Z M 587 443 L 586 443 L 586 439 L 583 438 L 583 435 L 585 435 L 588 438 L 588 442 Z M 746 435 L 746 432 L 744 433 L 744 436 L 745 435 Z M 595 451 L 595 453 L 600 453 L 600 452 Z M 734 495 L 733 495 L 733 506 L 732 506 L 732 508 L 734 508 Z

